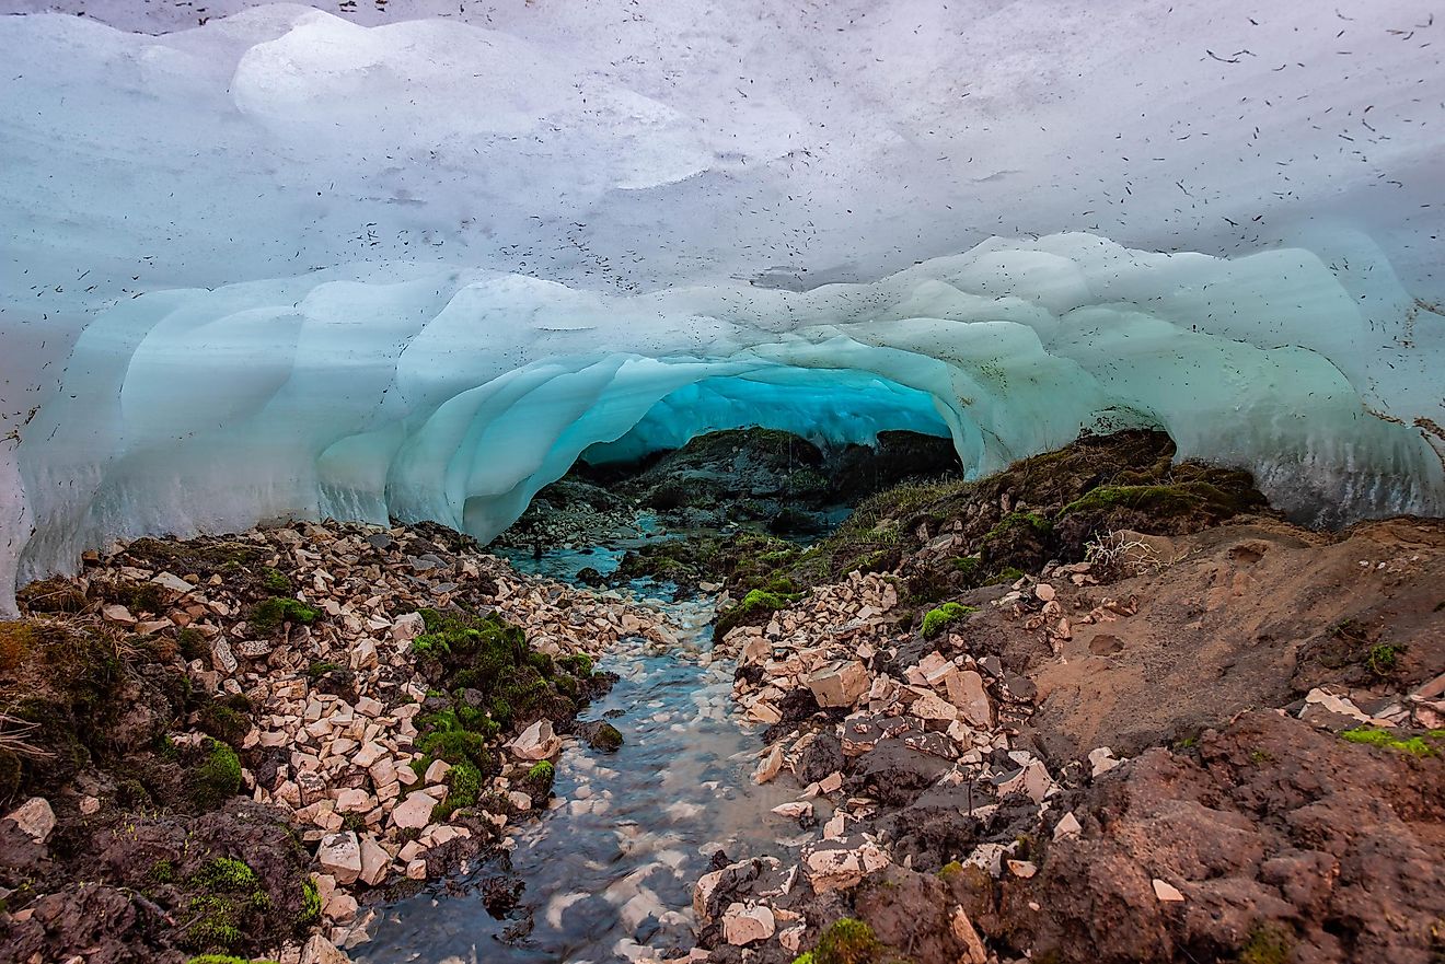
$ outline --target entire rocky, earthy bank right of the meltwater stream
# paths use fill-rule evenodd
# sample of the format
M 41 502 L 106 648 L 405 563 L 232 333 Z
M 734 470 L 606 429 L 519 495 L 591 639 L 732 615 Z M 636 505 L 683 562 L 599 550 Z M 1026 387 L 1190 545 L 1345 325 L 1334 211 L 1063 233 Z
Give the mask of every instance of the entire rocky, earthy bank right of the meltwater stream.
M 708 960 L 1442 960 L 1445 522 L 1240 515 L 1165 444 L 892 493 L 815 551 L 880 571 L 737 604 L 814 838 L 698 882 Z

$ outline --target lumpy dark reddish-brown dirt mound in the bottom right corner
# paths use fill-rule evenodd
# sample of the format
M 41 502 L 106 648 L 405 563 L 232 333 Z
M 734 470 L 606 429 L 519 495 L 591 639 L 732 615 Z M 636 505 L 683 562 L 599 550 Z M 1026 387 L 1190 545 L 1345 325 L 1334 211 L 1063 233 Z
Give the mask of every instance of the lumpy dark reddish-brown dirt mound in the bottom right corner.
M 1082 832 L 1049 845 L 1039 876 L 1006 883 L 998 916 L 983 918 L 1035 960 L 1431 964 L 1445 954 L 1439 752 L 1360 746 L 1251 713 L 1194 752 L 1144 753 L 1074 814 Z

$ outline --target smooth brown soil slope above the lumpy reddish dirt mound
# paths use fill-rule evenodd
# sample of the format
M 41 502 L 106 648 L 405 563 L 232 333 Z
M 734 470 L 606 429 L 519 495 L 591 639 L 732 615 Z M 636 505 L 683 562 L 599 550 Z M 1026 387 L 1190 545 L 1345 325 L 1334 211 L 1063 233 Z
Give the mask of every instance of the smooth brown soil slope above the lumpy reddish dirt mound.
M 1139 607 L 1075 623 L 1058 659 L 1040 632 L 1001 613 L 970 623 L 971 639 L 1035 679 L 1032 730 L 1051 757 L 1188 740 L 1327 681 L 1384 700 L 1445 665 L 1442 520 L 1371 522 L 1338 536 L 1261 520 L 1149 543 L 1159 562 L 1144 575 L 1052 582 L 1074 619 L 1104 598 Z

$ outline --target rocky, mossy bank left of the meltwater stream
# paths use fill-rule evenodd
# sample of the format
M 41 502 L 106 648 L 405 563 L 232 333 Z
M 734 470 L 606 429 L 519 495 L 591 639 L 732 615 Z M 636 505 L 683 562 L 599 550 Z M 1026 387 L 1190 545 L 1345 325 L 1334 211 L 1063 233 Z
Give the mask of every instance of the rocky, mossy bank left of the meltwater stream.
M 0 961 L 332 964 L 376 908 L 504 850 L 621 636 L 616 595 L 438 528 L 142 539 L 0 624 Z M 208 964 L 220 960 L 202 957 Z

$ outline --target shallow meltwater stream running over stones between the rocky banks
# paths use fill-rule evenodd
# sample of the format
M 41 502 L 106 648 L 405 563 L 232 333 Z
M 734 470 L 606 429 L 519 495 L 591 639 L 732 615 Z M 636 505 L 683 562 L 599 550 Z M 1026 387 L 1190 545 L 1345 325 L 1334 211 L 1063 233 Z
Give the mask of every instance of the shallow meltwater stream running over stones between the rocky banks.
M 611 554 L 514 558 L 522 571 L 571 580 L 608 571 Z M 603 964 L 643 948 L 691 947 L 692 885 L 717 850 L 731 858 L 776 853 L 796 825 L 770 809 L 793 799 L 783 780 L 751 782 L 760 749 L 730 700 L 733 665 L 711 659 L 709 600 L 665 601 L 681 627 L 665 647 L 624 639 L 601 669 L 620 679 L 582 714 L 607 717 L 626 740 L 601 753 L 568 740 L 556 763 L 556 799 L 520 828 L 512 869 L 526 883 L 517 912 L 493 919 L 473 880 L 435 886 L 386 909 L 360 964 Z M 483 867 L 475 879 L 496 874 Z M 460 885 L 460 886 L 458 886 Z M 509 929 L 523 937 L 506 939 Z

